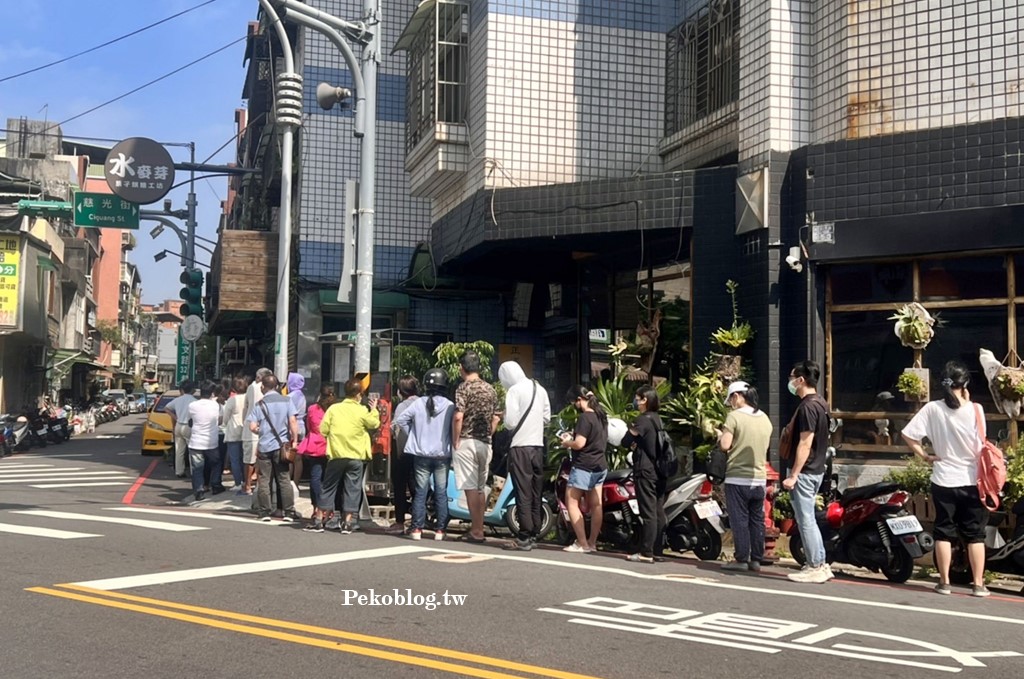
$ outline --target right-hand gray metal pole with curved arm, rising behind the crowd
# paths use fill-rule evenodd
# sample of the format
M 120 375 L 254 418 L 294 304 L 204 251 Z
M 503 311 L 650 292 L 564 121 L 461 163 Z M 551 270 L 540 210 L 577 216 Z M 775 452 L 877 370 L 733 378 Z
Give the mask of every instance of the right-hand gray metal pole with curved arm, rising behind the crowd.
M 260 0 L 260 3 L 268 0 Z M 377 165 L 377 69 L 381 58 L 381 2 L 364 0 L 359 24 L 338 18 L 296 0 L 275 0 L 288 18 L 327 36 L 341 51 L 355 85 L 354 134 L 359 143 L 359 207 L 355 262 L 355 371 L 370 372 L 370 336 L 373 332 L 374 204 Z M 361 44 L 361 65 L 356 68 L 351 48 L 339 31 Z M 361 81 L 361 82 L 360 82 Z M 343 266 L 350 266 L 344 262 Z M 344 273 L 342 273 L 344 275 Z

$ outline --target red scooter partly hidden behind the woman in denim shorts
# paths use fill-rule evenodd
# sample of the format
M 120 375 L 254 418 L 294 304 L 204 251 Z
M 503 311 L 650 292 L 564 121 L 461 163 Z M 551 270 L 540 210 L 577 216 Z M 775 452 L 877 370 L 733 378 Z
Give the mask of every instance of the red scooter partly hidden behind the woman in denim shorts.
M 575 533 L 569 523 L 569 510 L 566 504 L 569 469 L 572 463 L 568 459 L 562 462 L 555 478 L 555 497 L 558 501 L 558 518 L 555 521 L 557 542 L 560 545 L 570 545 L 575 540 Z M 615 469 L 609 471 L 601 486 L 601 522 L 600 540 L 610 543 L 617 549 L 636 551 L 640 544 L 640 507 L 637 504 L 636 489 L 633 485 L 633 471 Z M 580 509 L 584 520 L 590 521 L 590 508 L 587 498 L 580 501 Z

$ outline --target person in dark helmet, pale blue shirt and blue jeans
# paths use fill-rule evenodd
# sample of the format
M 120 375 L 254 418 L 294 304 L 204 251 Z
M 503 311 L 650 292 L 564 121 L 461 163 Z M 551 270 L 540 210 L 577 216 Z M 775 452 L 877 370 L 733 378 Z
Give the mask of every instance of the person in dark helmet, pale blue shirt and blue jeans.
M 423 375 L 425 395 L 413 400 L 399 412 L 394 426 L 406 432 L 404 455 L 413 458 L 413 477 L 416 493 L 413 496 L 413 525 L 409 537 L 423 538 L 427 520 L 427 494 L 430 479 L 434 481 L 434 502 L 437 525 L 434 540 L 444 540 L 447 529 L 447 476 L 452 466 L 452 419 L 455 404 L 447 398 L 447 374 L 432 368 Z

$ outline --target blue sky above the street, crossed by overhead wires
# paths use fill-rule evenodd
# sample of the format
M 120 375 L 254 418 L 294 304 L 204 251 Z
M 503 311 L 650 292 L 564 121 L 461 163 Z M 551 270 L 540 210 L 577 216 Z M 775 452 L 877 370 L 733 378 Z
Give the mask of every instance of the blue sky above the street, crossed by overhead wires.
M 175 14 L 205 0 L 18 0 L 8 12 L 7 30 L 0 41 L 0 79 L 93 47 Z M 258 0 L 214 0 L 195 11 L 139 35 L 65 63 L 20 78 L 0 82 L 0 127 L 9 118 L 59 122 L 163 76 L 246 35 L 255 20 Z M 245 41 L 170 78 L 62 126 L 66 138 L 124 139 L 148 137 L 160 142 L 196 143 L 202 162 L 234 135 L 234 110 L 242 99 Z M 0 132 L 6 136 L 6 133 Z M 93 142 L 101 143 L 101 142 Z M 113 145 L 113 143 L 104 144 Z M 169 146 L 177 162 L 188 161 L 188 150 Z M 232 162 L 228 143 L 210 163 Z M 187 175 L 179 172 L 175 180 Z M 174 209 L 185 207 L 187 185 L 168 195 Z M 220 201 L 227 179 L 196 182 L 197 234 L 216 240 Z M 160 209 L 161 205 L 151 206 Z M 143 221 L 136 232 L 138 247 L 129 260 L 142 274 L 142 301 L 177 299 L 181 288 L 178 258 L 161 262 L 161 250 L 179 250 L 169 229 L 150 237 L 155 222 Z M 213 246 L 205 244 L 209 248 Z M 197 258 L 210 255 L 197 249 Z

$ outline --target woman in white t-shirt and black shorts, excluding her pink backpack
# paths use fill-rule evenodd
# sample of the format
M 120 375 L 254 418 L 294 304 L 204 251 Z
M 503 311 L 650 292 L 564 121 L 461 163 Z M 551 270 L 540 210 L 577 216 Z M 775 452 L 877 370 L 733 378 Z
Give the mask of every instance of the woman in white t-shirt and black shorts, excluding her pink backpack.
M 932 465 L 932 501 L 935 503 L 935 562 L 939 568 L 939 584 L 935 591 L 950 594 L 949 563 L 952 541 L 957 531 L 967 543 L 971 572 L 974 576 L 974 596 L 988 596 L 985 587 L 985 525 L 988 510 L 978 494 L 978 455 L 985 435 L 981 406 L 971 402 L 967 390 L 970 374 L 967 367 L 950 360 L 942 370 L 941 400 L 925 405 L 903 429 L 903 438 L 914 455 Z M 922 445 L 925 438 L 932 450 Z

